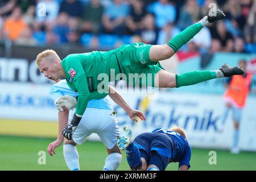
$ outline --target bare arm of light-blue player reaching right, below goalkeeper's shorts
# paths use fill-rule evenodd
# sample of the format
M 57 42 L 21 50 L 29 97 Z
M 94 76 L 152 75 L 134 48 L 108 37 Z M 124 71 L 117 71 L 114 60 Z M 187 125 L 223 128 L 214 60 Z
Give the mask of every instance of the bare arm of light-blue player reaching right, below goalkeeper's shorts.
M 123 97 L 113 88 L 113 86 L 109 85 L 109 97 L 115 102 L 115 104 L 121 106 L 123 110 L 129 115 L 130 119 L 137 122 L 138 120 L 135 117 L 139 117 L 142 121 L 146 120 L 144 114 L 139 110 L 132 109 Z

